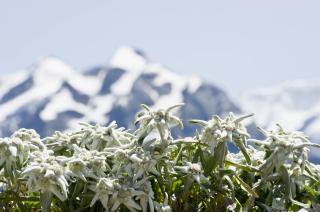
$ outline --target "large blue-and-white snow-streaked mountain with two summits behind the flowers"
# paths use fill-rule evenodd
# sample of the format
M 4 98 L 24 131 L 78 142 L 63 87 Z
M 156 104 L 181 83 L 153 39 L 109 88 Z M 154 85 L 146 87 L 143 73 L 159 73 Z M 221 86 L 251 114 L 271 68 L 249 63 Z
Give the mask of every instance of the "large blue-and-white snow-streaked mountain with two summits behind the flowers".
M 184 102 L 179 111 L 191 118 L 240 112 L 225 92 L 195 76 L 181 76 L 150 62 L 133 48 L 121 47 L 110 63 L 85 72 L 55 57 L 29 69 L 0 77 L 0 136 L 18 128 L 33 128 L 42 136 L 74 129 L 79 122 L 134 128 L 141 103 L 152 108 Z M 185 135 L 193 133 L 185 124 Z

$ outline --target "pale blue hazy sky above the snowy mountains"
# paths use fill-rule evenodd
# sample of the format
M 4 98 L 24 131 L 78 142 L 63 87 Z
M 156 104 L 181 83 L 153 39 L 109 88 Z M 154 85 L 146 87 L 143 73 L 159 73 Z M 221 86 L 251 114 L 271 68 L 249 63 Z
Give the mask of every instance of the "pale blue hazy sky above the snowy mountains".
M 236 95 L 320 78 L 319 11 L 319 0 L 0 0 L 0 74 L 47 55 L 90 68 L 130 45 Z

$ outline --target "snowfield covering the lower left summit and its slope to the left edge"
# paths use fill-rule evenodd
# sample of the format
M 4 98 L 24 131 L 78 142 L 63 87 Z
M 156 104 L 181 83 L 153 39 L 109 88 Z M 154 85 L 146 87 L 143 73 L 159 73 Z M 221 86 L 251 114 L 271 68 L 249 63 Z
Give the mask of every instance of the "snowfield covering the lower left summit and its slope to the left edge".
M 22 74 L 17 73 L 12 78 L 13 80 L 10 80 L 11 78 L 5 80 L 6 83 L 11 83 L 10 86 L 4 84 L 4 88 L 1 88 L 3 95 L 0 96 L 0 121 L 2 122 L 29 102 L 40 101 L 54 95 L 64 82 L 86 94 L 94 94 L 99 89 L 98 79 L 84 77 L 54 57 L 44 58 L 30 70 L 25 70 Z

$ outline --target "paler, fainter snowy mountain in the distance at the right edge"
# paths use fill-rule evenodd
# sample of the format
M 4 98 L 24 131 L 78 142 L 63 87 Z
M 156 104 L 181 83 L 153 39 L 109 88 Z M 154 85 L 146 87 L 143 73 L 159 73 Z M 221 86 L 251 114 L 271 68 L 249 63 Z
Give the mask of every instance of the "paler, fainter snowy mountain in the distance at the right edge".
M 248 92 L 241 98 L 241 106 L 255 113 L 257 125 L 272 129 L 279 123 L 320 143 L 320 81 L 294 80 Z M 311 151 L 312 157 L 320 160 L 319 151 Z

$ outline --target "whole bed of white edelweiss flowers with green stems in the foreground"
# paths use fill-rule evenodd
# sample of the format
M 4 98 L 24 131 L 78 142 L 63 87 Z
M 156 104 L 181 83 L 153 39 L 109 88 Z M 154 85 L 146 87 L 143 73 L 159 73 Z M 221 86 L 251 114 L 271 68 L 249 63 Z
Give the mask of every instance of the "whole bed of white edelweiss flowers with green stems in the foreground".
M 81 123 L 40 139 L 21 129 L 0 138 L 0 209 L 35 211 L 297 211 L 320 210 L 320 168 L 301 132 L 280 125 L 250 139 L 253 114 L 191 120 L 142 105 L 135 131 Z M 230 152 L 230 145 L 238 152 Z

